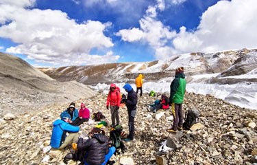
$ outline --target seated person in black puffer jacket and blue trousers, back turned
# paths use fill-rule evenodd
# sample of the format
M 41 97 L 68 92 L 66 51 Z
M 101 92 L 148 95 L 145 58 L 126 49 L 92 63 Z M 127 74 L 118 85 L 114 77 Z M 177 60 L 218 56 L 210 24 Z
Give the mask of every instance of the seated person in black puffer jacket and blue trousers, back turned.
M 79 138 L 77 142 L 78 151 L 86 150 L 84 164 L 106 164 L 114 154 L 116 148 L 112 146 L 109 149 L 109 138 L 105 135 L 103 130 L 93 128 L 88 134 L 91 138 L 86 141 L 84 141 L 83 138 Z

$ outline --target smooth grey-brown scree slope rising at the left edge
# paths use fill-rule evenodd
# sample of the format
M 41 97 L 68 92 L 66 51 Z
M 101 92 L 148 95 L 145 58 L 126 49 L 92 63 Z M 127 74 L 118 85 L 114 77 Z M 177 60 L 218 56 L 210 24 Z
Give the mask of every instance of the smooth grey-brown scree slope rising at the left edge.
M 47 104 L 95 95 L 76 81 L 60 83 L 16 56 L 0 53 L 0 118 L 6 113 L 38 111 Z

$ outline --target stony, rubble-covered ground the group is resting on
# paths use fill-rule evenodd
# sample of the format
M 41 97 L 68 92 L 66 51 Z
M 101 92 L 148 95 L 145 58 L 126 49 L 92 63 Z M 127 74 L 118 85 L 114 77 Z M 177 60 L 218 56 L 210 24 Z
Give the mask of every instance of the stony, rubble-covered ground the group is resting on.
M 136 135 L 132 142 L 125 142 L 127 152 L 113 156 L 116 164 L 125 157 L 134 164 L 156 164 L 156 159 L 167 164 L 254 164 L 257 163 L 257 111 L 243 109 L 213 98 L 186 94 L 184 111 L 194 107 L 200 111 L 199 122 L 204 126 L 197 131 L 183 131 L 180 147 L 160 152 L 161 143 L 170 136 L 165 130 L 171 126 L 171 111 L 147 111 L 145 104 L 156 98 L 146 94 L 138 98 L 136 114 Z M 76 101 L 85 102 L 91 114 L 101 111 L 110 121 L 106 110 L 106 95 L 97 94 L 91 98 Z M 63 164 L 71 146 L 62 151 L 47 151 L 50 143 L 52 122 L 69 104 L 51 104 L 38 111 L 16 115 L 14 120 L 0 120 L 0 164 Z M 121 124 L 127 128 L 127 110 L 120 110 Z M 95 126 L 83 124 L 79 131 L 88 133 Z M 108 127 L 104 128 L 108 132 Z M 70 161 L 69 164 L 78 162 Z

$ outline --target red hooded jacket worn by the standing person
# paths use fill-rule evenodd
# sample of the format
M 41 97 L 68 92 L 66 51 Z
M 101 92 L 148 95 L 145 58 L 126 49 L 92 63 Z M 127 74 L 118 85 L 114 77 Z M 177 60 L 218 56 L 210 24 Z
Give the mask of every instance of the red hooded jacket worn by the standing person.
M 115 87 L 116 85 L 111 84 L 110 87 Z M 116 88 L 114 91 L 109 91 L 108 96 L 107 96 L 107 102 L 106 105 L 111 105 L 111 106 L 120 106 L 121 104 L 121 94 L 119 92 L 119 89 Z

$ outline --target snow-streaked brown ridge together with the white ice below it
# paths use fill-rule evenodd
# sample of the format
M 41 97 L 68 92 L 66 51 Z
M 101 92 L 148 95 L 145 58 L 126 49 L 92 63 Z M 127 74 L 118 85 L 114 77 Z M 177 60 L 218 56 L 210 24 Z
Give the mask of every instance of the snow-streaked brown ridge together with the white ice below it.
M 190 53 L 146 63 L 110 63 L 90 66 L 40 68 L 60 81 L 77 80 L 108 90 L 110 83 L 122 87 L 134 85 L 138 74 L 144 75 L 145 92 L 168 92 L 177 67 L 183 66 L 187 91 L 211 94 L 233 104 L 257 109 L 257 49 Z

